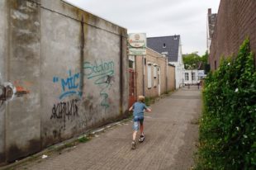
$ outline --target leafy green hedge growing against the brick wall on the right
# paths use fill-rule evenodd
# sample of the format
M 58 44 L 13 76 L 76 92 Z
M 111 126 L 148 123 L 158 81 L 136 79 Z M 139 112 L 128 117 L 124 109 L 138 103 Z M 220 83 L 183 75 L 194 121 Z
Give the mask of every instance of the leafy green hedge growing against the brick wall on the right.
M 256 71 L 249 40 L 203 89 L 197 169 L 256 169 Z

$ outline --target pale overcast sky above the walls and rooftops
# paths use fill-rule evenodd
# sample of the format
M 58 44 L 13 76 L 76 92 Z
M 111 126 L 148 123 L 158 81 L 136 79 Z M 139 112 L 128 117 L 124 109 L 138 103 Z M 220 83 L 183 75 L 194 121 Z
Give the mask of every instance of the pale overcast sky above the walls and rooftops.
M 206 51 L 207 9 L 220 0 L 66 0 L 87 12 L 147 37 L 181 35 L 183 54 Z

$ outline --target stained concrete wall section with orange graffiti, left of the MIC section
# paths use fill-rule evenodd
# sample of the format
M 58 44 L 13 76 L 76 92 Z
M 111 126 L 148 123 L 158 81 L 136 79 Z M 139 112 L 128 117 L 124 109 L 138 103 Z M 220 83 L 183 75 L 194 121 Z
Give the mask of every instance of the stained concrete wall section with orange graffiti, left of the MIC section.
M 6 114 L 7 159 L 40 150 L 40 5 L 9 2 L 8 81 L 25 87 L 29 95 L 8 102 Z

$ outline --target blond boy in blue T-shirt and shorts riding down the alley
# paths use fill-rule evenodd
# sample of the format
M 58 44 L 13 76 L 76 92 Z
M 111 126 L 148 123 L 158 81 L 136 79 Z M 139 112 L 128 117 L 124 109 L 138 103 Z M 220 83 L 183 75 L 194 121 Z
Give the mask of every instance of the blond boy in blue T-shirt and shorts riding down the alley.
M 133 106 L 130 107 L 129 111 L 133 110 L 133 135 L 132 135 L 132 142 L 131 142 L 131 149 L 135 149 L 135 139 L 137 132 L 140 128 L 140 139 L 139 142 L 143 142 L 145 139 L 144 135 L 144 128 L 143 128 L 143 121 L 144 121 L 144 111 L 151 111 L 148 106 L 145 106 L 145 97 L 139 96 L 138 102 L 135 102 Z M 140 124 L 140 127 L 139 127 Z

